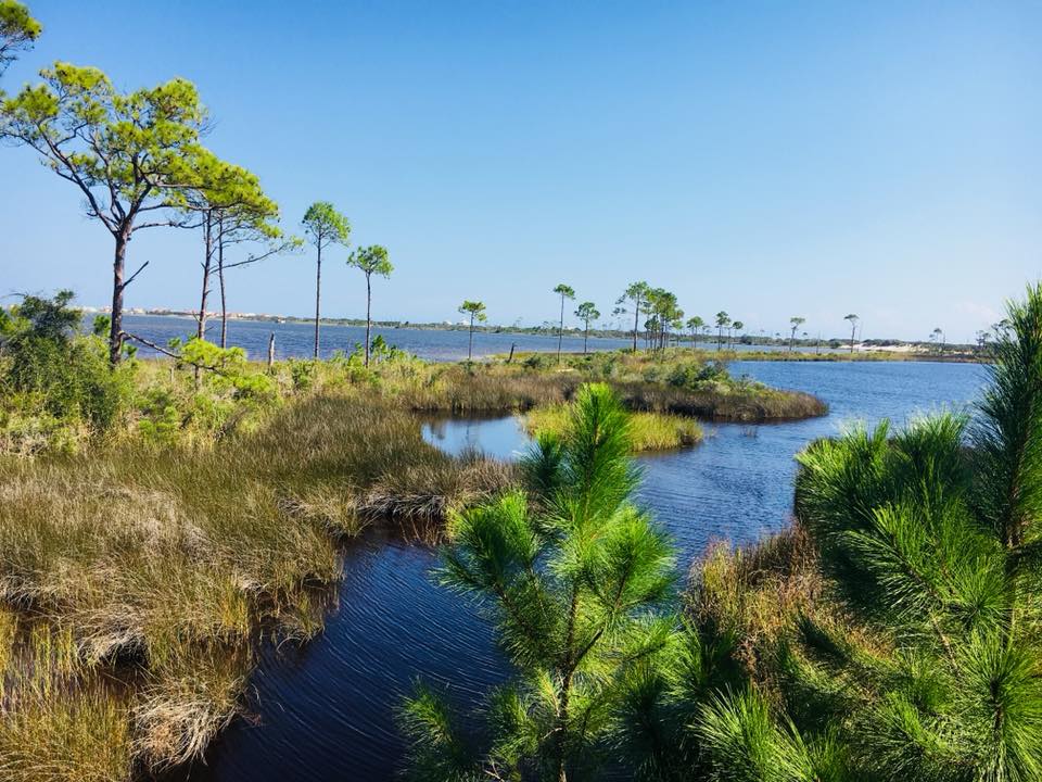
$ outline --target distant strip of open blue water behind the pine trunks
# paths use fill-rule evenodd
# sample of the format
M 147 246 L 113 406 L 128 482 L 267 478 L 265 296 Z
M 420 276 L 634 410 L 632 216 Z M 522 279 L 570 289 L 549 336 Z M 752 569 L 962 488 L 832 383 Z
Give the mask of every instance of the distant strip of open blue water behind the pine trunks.
M 195 333 L 195 320 L 190 317 L 166 315 L 127 315 L 124 329 L 143 337 L 150 342 L 166 345 L 175 337 L 189 337 Z M 257 320 L 230 320 L 228 323 L 228 344 L 243 348 L 251 358 L 262 361 L 268 355 L 268 337 L 275 335 L 276 358 L 310 357 L 315 348 L 315 326 L 306 323 L 260 323 Z M 220 321 L 209 320 L 206 328 L 207 339 L 220 340 Z M 467 357 L 468 332 L 444 329 L 382 328 L 373 327 L 373 338 L 383 338 L 408 353 L 431 361 L 461 361 Z M 366 341 L 363 326 L 322 326 L 319 345 L 321 355 L 328 358 L 335 351 L 351 353 L 355 345 Z M 703 341 L 700 340 L 700 344 Z M 617 350 L 628 348 L 627 339 L 590 337 L 589 350 Z M 687 342 L 685 340 L 684 344 Z M 519 352 L 538 351 L 549 353 L 557 350 L 557 337 L 529 333 L 474 333 L 474 357 L 484 357 L 497 353 L 509 353 L 510 345 L 517 345 Z M 738 350 L 783 350 L 782 348 L 752 348 L 735 345 Z M 566 333 L 562 342 L 566 352 L 581 352 L 581 336 Z M 155 355 L 155 352 L 139 345 L 142 355 Z M 823 348 L 822 352 L 830 352 Z

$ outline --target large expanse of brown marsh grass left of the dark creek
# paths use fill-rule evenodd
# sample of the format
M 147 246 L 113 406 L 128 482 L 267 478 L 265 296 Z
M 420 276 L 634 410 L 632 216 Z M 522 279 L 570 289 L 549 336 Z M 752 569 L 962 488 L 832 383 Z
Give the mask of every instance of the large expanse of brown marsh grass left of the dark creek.
M 213 447 L 0 459 L 3 778 L 127 779 L 198 757 L 240 708 L 258 631 L 321 629 L 339 540 L 437 522 L 511 481 L 351 390 Z

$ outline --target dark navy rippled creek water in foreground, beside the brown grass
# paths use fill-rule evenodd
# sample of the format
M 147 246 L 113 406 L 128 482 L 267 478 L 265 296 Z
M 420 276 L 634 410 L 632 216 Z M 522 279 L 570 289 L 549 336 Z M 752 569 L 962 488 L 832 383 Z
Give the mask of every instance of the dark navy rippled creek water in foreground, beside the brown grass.
M 461 710 L 508 667 L 474 605 L 436 586 L 431 548 L 373 531 L 348 546 L 338 604 L 316 640 L 268 645 L 239 720 L 191 780 L 390 780 L 394 710 L 417 677 Z M 461 674 L 461 670 L 463 671 Z

